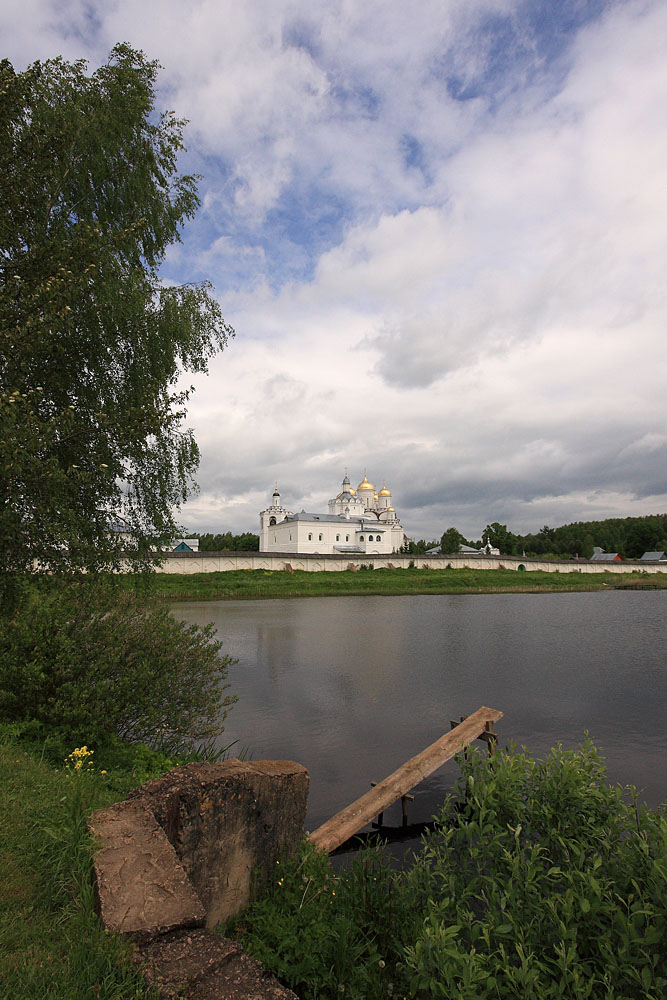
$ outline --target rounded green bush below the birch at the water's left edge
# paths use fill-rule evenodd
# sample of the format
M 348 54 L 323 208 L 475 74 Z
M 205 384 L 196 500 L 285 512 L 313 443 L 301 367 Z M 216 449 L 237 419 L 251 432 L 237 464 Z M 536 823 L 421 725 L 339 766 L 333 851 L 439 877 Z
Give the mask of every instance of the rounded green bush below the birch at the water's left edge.
M 0 620 L 0 720 L 47 725 L 79 745 L 153 746 L 217 736 L 235 698 L 213 627 L 92 581 L 37 591 Z

